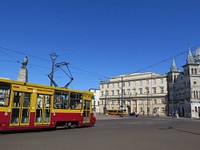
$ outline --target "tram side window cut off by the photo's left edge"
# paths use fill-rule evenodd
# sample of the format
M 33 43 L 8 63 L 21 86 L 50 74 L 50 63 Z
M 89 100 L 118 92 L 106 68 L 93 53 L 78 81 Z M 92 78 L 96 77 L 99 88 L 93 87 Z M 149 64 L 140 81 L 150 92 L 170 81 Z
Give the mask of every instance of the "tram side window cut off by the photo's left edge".
M 8 106 L 10 99 L 10 85 L 0 83 L 0 106 Z

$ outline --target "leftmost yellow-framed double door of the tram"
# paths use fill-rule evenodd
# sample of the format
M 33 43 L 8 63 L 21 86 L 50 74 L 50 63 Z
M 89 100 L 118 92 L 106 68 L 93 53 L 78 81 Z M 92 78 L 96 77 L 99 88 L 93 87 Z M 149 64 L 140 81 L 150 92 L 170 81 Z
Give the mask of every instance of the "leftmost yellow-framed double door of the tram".
M 30 97 L 31 93 L 13 92 L 13 100 L 11 103 L 11 126 L 29 125 L 30 120 Z

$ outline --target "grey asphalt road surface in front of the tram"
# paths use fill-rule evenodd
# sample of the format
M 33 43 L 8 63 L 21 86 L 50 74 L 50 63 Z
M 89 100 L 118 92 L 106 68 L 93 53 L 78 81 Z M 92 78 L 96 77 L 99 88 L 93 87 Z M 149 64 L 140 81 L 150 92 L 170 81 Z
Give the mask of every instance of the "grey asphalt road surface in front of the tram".
M 0 150 L 195 150 L 200 120 L 121 118 L 95 127 L 0 133 Z

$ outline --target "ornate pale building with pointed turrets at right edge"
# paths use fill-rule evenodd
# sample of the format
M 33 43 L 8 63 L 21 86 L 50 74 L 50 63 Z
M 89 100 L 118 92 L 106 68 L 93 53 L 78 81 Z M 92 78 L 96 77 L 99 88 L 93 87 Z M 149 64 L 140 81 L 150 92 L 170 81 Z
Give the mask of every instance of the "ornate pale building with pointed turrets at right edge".
M 168 113 L 181 117 L 200 118 L 200 47 L 192 54 L 188 49 L 183 71 L 172 61 L 167 74 Z

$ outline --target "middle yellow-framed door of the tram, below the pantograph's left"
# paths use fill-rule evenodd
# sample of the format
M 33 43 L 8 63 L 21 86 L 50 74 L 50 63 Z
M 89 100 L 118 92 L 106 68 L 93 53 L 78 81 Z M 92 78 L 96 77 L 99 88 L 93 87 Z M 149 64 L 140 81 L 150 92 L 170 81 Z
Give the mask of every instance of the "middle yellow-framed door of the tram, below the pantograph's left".
M 51 96 L 38 94 L 36 101 L 36 111 L 35 111 L 36 125 L 50 124 L 50 115 L 51 115 L 50 108 L 51 108 Z

